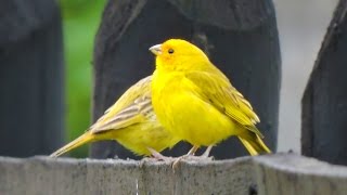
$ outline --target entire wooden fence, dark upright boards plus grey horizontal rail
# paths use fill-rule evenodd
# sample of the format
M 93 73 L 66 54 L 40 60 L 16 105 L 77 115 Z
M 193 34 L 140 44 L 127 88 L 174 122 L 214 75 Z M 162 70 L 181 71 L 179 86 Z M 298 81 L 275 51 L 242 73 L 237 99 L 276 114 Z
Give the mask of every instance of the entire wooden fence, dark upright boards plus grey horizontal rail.
M 22 96 L 21 92 L 26 89 L 26 82 L 15 88 L 16 86 L 12 83 L 17 79 L 5 77 L 7 74 L 1 75 L 4 79 L 0 83 L 1 89 L 14 90 L 17 94 L 13 96 L 22 101 L 24 99 L 27 101 L 24 105 L 31 107 L 25 108 L 22 104 L 17 104 L 16 99 L 10 99 L 7 94 L 1 95 L 0 100 L 4 100 L 0 101 L 1 108 L 11 110 L 0 109 L 2 119 L 0 154 L 20 157 L 48 154 L 57 147 L 63 130 L 61 108 L 63 66 L 59 9 L 53 0 L 44 1 L 48 9 L 35 3 L 33 6 L 21 6 L 24 1 L 18 0 L 8 2 L 10 3 L 5 4 L 7 6 L 0 6 L 0 10 L 4 10 L 4 15 L 23 11 L 33 14 L 33 17 L 26 17 L 34 21 L 27 22 L 36 25 L 28 25 L 29 31 L 25 35 L 16 36 L 5 31 L 5 36 L 11 38 L 12 35 L 13 39 L 4 39 L 5 41 L 0 39 L 0 62 L 8 65 L 4 66 L 5 70 L 12 70 L 13 76 L 17 76 L 16 73 L 24 75 L 33 73 L 38 77 L 33 76 L 28 79 L 33 83 L 27 82 L 28 93 Z M 35 2 L 40 4 L 43 1 Z M 235 86 L 240 87 L 246 96 L 249 96 L 262 119 L 260 128 L 267 135 L 267 142 L 272 150 L 275 150 L 281 57 L 272 1 L 237 0 L 231 3 L 219 1 L 215 4 L 209 0 L 183 2 L 185 1 L 108 1 L 95 41 L 93 118 L 98 118 L 130 83 L 151 73 L 150 54 L 144 54 L 150 43 L 179 36 L 200 44 L 217 64 L 226 65 L 220 68 L 233 78 Z M 23 10 L 14 9 L 12 12 L 11 8 L 23 8 Z M 46 11 L 51 9 L 52 12 L 49 12 L 51 17 L 36 16 L 43 13 L 38 8 Z M 31 12 L 26 12 L 25 9 L 31 9 Z M 347 60 L 346 13 L 347 0 L 340 0 L 303 99 L 301 130 L 303 154 L 342 165 L 347 165 L 345 133 L 347 77 L 344 72 Z M 2 24 L 9 25 L 13 24 L 7 21 L 9 18 L 25 18 L 21 13 L 17 14 L 20 17 L 0 17 L 0 22 L 4 20 Z M 41 22 L 39 18 L 48 21 Z M 13 27 L 25 27 L 25 25 Z M 2 28 L 18 31 L 5 25 Z M 0 30 L 2 28 L 0 26 Z M 144 28 L 151 29 L 143 30 Z M 4 35 L 3 31 L 0 32 Z M 47 37 L 42 37 L 44 40 L 40 39 L 42 42 L 38 43 L 36 40 L 42 35 Z M 37 50 L 25 48 L 34 43 Z M 137 52 L 133 52 L 134 49 Z M 49 54 L 46 55 L 44 52 Z M 35 61 L 33 56 L 38 60 Z M 42 60 L 41 56 L 47 57 Z M 25 63 L 28 67 L 33 64 L 38 67 L 29 68 L 33 72 L 23 72 L 22 68 L 25 66 L 22 65 Z M 21 74 L 20 77 L 22 78 Z M 38 82 L 41 84 L 36 88 Z M 35 90 L 30 90 L 30 87 Z M 260 94 L 259 88 L 262 89 Z M 37 100 L 43 102 L 39 103 Z M 18 112 L 11 113 L 12 110 L 21 110 L 23 117 L 16 117 Z M 48 112 L 51 115 L 48 115 Z M 26 144 L 25 141 L 29 143 Z M 229 158 L 231 156 L 228 155 L 231 153 L 227 151 L 230 148 L 233 148 L 232 154 L 235 156 L 244 153 L 240 145 L 229 143 L 214 150 L 214 155 L 218 158 Z M 183 147 L 179 150 L 184 151 Z M 174 153 L 178 154 L 178 151 Z M 115 147 L 114 143 L 110 142 L 95 144 L 91 156 L 106 158 L 115 154 L 120 157 L 130 156 L 125 150 Z M 5 195 L 325 195 L 346 194 L 346 192 L 347 167 L 333 166 L 294 154 L 200 162 L 183 161 L 175 172 L 165 162 L 0 157 L 0 194 Z

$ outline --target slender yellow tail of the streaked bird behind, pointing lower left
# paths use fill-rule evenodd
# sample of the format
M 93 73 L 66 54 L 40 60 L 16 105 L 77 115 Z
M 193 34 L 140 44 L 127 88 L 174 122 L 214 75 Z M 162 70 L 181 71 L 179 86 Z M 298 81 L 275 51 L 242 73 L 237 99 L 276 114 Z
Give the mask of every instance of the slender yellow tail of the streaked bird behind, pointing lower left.
M 94 141 L 95 136 L 93 134 L 91 134 L 89 131 L 87 131 L 86 133 L 83 133 L 82 135 L 78 136 L 77 139 L 75 139 L 74 141 L 72 141 L 70 143 L 64 145 L 63 147 L 61 147 L 60 150 L 55 151 L 53 154 L 50 155 L 50 157 L 57 157 L 61 156 L 62 154 L 65 154 L 76 147 L 79 147 L 88 142 L 92 142 Z

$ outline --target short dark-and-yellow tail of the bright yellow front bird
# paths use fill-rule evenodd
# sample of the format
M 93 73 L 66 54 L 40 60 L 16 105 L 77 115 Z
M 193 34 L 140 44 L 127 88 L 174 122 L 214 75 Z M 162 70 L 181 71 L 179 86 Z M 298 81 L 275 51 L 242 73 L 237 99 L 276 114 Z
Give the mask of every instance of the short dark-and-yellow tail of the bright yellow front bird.
M 269 147 L 262 142 L 261 138 L 252 131 L 246 131 L 240 134 L 239 139 L 252 156 L 271 153 Z

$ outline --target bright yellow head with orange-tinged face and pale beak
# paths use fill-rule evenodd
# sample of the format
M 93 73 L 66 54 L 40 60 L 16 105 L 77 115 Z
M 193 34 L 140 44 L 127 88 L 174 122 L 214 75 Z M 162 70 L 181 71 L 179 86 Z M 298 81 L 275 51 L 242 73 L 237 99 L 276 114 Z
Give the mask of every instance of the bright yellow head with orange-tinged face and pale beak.
M 208 57 L 196 46 L 181 39 L 169 39 L 150 48 L 156 55 L 156 68 L 166 70 L 193 70 L 208 64 Z

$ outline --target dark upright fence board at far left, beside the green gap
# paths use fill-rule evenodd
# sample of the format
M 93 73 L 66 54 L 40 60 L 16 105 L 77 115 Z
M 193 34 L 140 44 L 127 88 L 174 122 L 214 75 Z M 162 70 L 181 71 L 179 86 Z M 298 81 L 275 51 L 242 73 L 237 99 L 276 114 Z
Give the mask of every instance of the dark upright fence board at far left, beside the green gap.
M 64 62 L 54 0 L 0 2 L 0 155 L 49 154 L 64 132 Z

